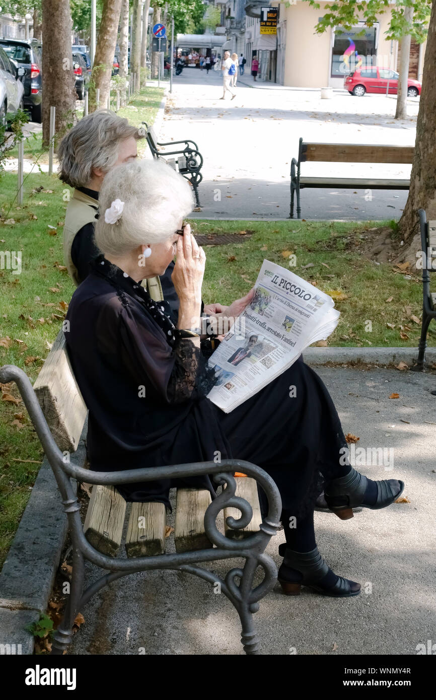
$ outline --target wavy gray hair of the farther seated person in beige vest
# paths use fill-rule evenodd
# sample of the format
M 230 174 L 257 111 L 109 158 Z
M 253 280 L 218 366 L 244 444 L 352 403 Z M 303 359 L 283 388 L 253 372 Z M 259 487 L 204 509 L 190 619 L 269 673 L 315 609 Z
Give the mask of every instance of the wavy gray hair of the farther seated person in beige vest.
M 117 162 L 120 141 L 132 137 L 142 139 L 143 134 L 108 109 L 88 114 L 57 148 L 59 178 L 71 187 L 86 187 L 92 179 L 92 168 L 107 173 Z

